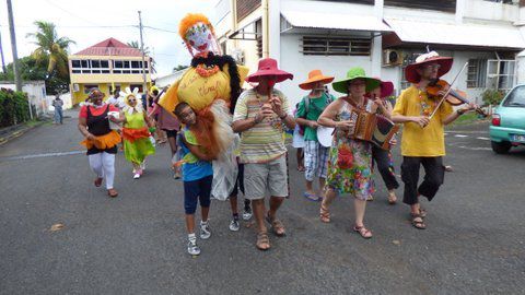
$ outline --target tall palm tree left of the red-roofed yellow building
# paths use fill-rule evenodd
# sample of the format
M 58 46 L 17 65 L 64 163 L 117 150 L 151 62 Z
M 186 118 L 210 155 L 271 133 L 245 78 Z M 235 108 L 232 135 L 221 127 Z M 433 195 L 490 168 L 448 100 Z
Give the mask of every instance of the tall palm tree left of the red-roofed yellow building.
M 75 44 L 68 37 L 58 37 L 54 23 L 36 21 L 36 33 L 27 34 L 36 40 L 34 44 L 38 46 L 32 56 L 37 62 L 47 62 L 47 73 L 51 74 L 57 71 L 60 76 L 67 76 L 68 70 L 68 47 Z

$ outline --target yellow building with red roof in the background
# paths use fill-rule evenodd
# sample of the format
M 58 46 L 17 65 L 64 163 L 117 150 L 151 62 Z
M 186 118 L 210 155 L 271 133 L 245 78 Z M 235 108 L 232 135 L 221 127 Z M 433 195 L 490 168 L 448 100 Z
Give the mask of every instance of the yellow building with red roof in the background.
M 145 79 L 151 83 L 151 58 L 145 57 Z M 109 97 L 114 90 L 138 87 L 142 92 L 142 54 L 115 38 L 108 38 L 69 56 L 73 104 L 88 97 L 93 87 Z

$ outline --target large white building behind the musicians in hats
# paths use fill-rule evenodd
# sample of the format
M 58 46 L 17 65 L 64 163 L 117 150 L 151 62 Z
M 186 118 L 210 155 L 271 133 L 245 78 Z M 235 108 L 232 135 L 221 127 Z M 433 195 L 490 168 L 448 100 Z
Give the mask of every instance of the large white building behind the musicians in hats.
M 305 95 L 298 84 L 313 69 L 337 80 L 359 66 L 393 81 L 399 93 L 408 86 L 404 68 L 427 46 L 454 58 L 447 81 L 469 62 L 455 87 L 480 102 L 487 87 L 508 90 L 525 82 L 525 55 L 518 55 L 525 49 L 525 7 L 518 2 L 219 0 L 214 26 L 223 51 L 250 72 L 269 56 L 293 73 L 294 81 L 280 87 L 294 103 Z

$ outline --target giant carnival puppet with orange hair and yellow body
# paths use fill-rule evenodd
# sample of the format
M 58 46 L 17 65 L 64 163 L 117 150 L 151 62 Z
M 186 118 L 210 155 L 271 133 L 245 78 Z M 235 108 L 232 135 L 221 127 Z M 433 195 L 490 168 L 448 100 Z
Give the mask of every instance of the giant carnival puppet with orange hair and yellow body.
M 211 155 L 218 156 L 232 144 L 231 115 L 248 72 L 228 55 L 221 55 L 213 26 L 202 14 L 188 14 L 179 25 L 180 37 L 192 56 L 191 67 L 160 99 L 170 114 L 179 102 L 191 106 L 197 123 L 191 130 Z

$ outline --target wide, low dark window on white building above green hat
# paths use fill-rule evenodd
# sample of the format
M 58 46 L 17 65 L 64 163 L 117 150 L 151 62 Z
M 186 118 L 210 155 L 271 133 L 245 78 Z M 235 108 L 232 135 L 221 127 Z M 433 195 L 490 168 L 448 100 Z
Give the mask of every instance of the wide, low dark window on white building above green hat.
M 302 51 L 305 56 L 370 56 L 371 39 L 311 37 L 302 39 Z

